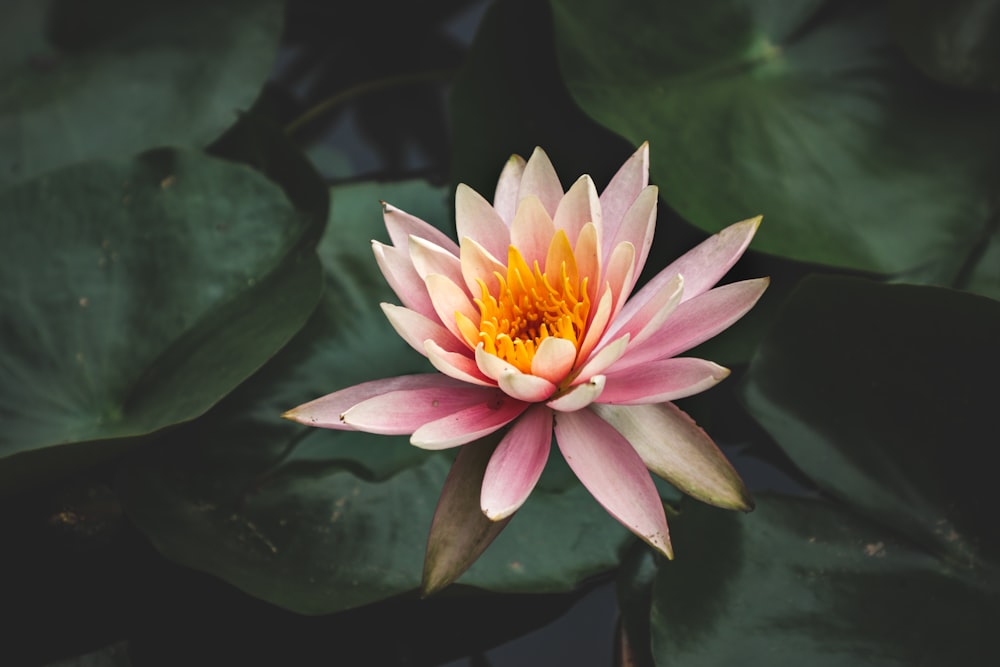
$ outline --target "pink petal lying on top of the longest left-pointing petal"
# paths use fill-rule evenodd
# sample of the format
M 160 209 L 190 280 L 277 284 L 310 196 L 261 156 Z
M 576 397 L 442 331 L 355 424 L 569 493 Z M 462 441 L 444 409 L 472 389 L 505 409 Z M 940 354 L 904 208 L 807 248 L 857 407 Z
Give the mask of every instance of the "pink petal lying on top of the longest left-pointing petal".
M 467 384 L 405 389 L 373 396 L 350 408 L 340 419 L 358 431 L 409 435 L 424 424 L 439 421 L 477 405 L 505 400 L 495 387 Z

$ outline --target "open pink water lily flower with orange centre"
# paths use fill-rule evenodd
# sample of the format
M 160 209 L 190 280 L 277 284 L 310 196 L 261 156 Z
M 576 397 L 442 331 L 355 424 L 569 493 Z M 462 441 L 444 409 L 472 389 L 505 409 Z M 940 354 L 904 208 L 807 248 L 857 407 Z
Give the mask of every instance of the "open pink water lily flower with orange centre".
M 528 498 L 554 433 L 594 498 L 667 557 L 666 516 L 649 471 L 704 502 L 751 509 L 718 447 L 670 401 L 729 373 L 677 355 L 737 321 L 767 287 L 766 278 L 714 287 L 760 218 L 710 237 L 633 295 L 656 222 L 648 180 L 647 144 L 600 195 L 589 176 L 564 192 L 541 149 L 527 162 L 514 156 L 492 205 L 458 187 L 457 244 L 384 204 L 392 243 L 373 248 L 402 305 L 382 309 L 439 372 L 359 384 L 286 417 L 407 434 L 425 449 L 506 429 L 479 471 L 481 511 L 493 522 Z M 455 483 L 449 478 L 443 496 Z

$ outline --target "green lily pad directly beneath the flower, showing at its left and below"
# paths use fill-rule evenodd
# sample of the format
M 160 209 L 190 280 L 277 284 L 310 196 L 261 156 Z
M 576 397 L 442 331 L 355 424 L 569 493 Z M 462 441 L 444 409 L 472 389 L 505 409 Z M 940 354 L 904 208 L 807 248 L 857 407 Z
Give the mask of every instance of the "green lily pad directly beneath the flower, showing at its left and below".
M 123 506 L 167 558 L 305 614 L 416 595 L 447 455 L 279 415 L 358 382 L 433 371 L 378 307 L 395 298 L 369 241 L 385 236 L 379 198 L 440 223 L 443 194 L 415 183 L 335 188 L 319 246 L 327 290 L 309 325 L 205 418 L 130 457 Z M 572 590 L 612 568 L 628 539 L 582 486 L 539 489 L 459 581 Z

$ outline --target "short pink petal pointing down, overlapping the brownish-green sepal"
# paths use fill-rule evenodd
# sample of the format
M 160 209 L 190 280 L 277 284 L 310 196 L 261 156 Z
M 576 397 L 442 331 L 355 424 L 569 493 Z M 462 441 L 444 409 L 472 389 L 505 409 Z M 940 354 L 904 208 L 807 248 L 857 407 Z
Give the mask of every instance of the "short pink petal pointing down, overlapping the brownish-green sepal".
M 492 521 L 505 519 L 528 499 L 552 446 L 552 411 L 536 405 L 514 422 L 486 466 L 480 506 Z

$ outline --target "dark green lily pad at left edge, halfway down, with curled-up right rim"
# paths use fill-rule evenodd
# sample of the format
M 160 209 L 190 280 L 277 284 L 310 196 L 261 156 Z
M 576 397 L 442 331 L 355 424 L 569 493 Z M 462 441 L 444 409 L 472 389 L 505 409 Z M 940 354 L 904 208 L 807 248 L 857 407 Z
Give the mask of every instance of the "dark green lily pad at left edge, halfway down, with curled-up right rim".
M 0 488 L 197 417 L 252 374 L 319 297 L 308 229 L 259 174 L 173 150 L 0 191 Z

